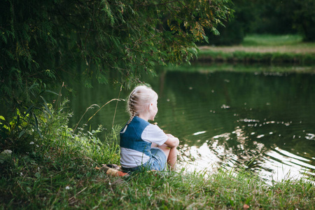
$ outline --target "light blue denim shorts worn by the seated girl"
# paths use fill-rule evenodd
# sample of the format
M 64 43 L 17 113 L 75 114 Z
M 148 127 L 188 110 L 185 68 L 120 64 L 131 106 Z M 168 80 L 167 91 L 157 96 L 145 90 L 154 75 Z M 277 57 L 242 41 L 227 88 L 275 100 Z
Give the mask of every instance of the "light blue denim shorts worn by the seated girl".
M 123 172 L 139 172 L 139 171 L 163 171 L 166 167 L 167 156 L 162 151 L 162 149 L 158 147 L 151 148 L 151 158 L 148 162 L 144 163 L 143 165 L 139 165 L 138 167 L 134 168 L 125 168 L 122 167 Z

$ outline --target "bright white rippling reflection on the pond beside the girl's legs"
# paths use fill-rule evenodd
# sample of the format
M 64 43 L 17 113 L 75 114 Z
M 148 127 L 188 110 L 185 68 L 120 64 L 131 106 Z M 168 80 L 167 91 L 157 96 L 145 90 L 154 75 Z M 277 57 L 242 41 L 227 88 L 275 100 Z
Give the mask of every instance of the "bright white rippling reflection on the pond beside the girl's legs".
M 193 135 L 206 134 L 207 132 L 195 132 Z M 221 141 L 228 140 L 232 134 L 236 134 L 240 143 L 237 148 L 241 153 L 235 153 L 232 148 L 222 144 Z M 311 160 L 295 155 L 279 147 L 268 149 L 264 144 L 253 141 L 254 148 L 246 148 L 246 137 L 244 132 L 237 128 L 231 133 L 218 134 L 208 140 L 202 146 L 188 146 L 186 144 L 186 160 L 181 165 L 193 169 L 211 169 L 219 166 L 225 169 L 243 166 L 258 172 L 262 179 L 267 181 L 280 181 L 281 179 L 300 179 L 307 174 L 314 176 L 314 165 L 309 164 Z M 260 135 L 264 136 L 264 135 Z M 259 137 L 259 136 L 258 136 Z M 307 137 L 313 138 L 312 135 Z M 259 139 L 259 138 L 257 138 Z M 247 151 L 246 151 L 247 150 Z M 190 156 L 190 158 L 187 158 Z M 193 158 L 191 158 L 193 157 Z

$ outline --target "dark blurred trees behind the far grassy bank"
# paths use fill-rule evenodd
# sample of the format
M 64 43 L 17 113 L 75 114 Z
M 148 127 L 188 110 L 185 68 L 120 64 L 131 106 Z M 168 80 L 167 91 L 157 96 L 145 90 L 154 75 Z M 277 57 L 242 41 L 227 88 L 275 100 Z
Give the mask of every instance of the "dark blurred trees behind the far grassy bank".
M 218 27 L 220 36 L 206 31 L 210 45 L 233 45 L 246 34 L 301 34 L 315 41 L 315 1 L 233 0 L 234 18 Z

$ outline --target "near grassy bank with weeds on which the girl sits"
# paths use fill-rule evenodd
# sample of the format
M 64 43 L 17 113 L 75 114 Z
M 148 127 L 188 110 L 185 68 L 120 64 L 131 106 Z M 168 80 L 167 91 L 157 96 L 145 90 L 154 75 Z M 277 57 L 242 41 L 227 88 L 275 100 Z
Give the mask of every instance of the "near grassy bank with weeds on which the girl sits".
M 59 109 L 37 113 L 41 137 L 31 127 L 10 131 L 0 155 L 1 209 L 311 209 L 314 185 L 307 179 L 267 185 L 245 169 L 144 172 L 128 177 L 97 170 L 119 164 L 119 126 L 99 141 L 97 130 L 67 126 Z M 1 121 L 3 123 L 3 119 Z M 21 125 L 22 126 L 22 125 Z M 14 138 L 13 138 L 14 137 Z M 23 138 L 24 137 L 24 138 Z M 18 139 L 19 141 L 17 141 Z

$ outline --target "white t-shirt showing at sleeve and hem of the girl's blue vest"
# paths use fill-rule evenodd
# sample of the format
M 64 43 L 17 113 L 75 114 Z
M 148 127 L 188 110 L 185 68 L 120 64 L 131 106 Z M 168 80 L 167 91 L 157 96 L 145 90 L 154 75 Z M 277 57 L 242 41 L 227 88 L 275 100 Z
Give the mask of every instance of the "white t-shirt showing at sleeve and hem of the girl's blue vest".
M 161 146 L 169 137 L 167 137 L 167 134 L 165 134 L 158 125 L 150 124 L 144 129 L 144 132 L 142 132 L 141 139 Z M 139 151 L 134 151 L 129 148 L 120 148 L 120 165 L 122 165 L 122 167 L 138 167 L 148 162 L 149 159 L 150 157 L 148 157 L 148 155 Z

